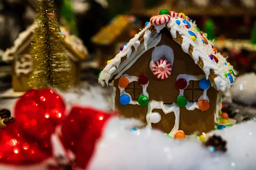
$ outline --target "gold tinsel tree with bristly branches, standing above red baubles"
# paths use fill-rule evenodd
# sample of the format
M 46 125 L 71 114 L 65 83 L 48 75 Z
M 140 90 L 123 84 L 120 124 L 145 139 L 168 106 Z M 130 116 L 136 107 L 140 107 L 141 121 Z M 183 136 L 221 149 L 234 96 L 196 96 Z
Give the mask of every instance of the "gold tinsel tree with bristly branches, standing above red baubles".
M 37 0 L 35 29 L 32 37 L 33 73 L 29 80 L 32 88 L 70 87 L 71 66 L 64 47 L 64 36 L 55 15 L 53 0 Z

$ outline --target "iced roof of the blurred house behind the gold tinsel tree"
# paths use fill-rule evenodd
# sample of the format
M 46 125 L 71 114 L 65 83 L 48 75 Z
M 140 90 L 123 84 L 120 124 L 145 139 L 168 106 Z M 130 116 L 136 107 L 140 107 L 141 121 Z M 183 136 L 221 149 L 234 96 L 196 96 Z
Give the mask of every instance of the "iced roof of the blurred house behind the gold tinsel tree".
M 20 54 L 30 45 L 35 27 L 35 25 L 31 25 L 25 31 L 19 34 L 14 42 L 14 45 L 11 48 L 8 48 L 3 54 L 4 61 L 11 61 L 14 59 L 16 54 Z M 76 61 L 83 60 L 87 57 L 87 48 L 83 45 L 82 40 L 74 35 L 70 35 L 67 29 L 64 27 L 61 27 L 60 34 L 64 35 L 64 44 L 67 46 L 67 50 L 70 52 L 70 54 L 72 54 L 69 55 L 71 59 Z

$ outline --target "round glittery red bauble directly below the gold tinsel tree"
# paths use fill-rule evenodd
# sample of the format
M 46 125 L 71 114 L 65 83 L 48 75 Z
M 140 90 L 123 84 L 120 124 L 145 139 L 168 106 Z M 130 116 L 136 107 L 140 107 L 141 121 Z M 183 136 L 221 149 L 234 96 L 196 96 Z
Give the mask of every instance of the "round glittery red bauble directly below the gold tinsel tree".
M 47 139 L 65 118 L 65 104 L 52 89 L 30 90 L 18 99 L 14 115 L 35 140 Z

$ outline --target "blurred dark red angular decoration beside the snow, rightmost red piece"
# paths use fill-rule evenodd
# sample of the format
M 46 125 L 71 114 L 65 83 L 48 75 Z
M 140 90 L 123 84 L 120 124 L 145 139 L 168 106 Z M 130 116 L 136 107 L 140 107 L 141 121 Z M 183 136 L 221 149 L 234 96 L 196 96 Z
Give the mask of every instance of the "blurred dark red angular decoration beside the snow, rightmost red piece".
M 112 115 L 91 108 L 72 108 L 64 120 L 61 140 L 76 156 L 76 164 L 85 168 L 93 154 L 97 140 Z

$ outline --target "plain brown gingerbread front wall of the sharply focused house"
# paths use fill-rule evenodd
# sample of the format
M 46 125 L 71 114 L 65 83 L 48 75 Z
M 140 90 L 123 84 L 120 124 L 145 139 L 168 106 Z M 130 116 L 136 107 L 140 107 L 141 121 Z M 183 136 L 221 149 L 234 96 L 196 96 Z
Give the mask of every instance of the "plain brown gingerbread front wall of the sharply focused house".
M 204 72 L 195 64 L 194 60 L 186 53 L 183 52 L 180 45 L 174 40 L 170 39 L 165 34 L 162 34 L 162 40 L 157 45 L 168 45 L 174 52 L 174 63 L 172 66 L 172 74 L 167 79 L 158 79 L 154 76 L 149 68 L 151 61 L 151 53 L 154 48 L 146 51 L 138 60 L 134 63 L 124 74 L 131 76 L 140 76 L 140 74 L 147 74 L 149 77 L 149 85 L 147 92 L 149 94 L 149 101 L 163 101 L 164 103 L 176 102 L 177 96 L 180 91 L 175 86 L 176 78 L 179 74 L 190 74 L 190 75 L 202 75 Z M 184 90 L 184 96 L 190 101 L 196 101 L 203 94 L 203 90 L 199 88 L 199 81 L 190 81 L 189 86 Z M 140 119 L 146 125 L 146 113 L 148 110 L 147 106 L 140 105 L 122 105 L 119 102 L 120 91 L 118 88 L 118 79 L 115 80 L 114 86 L 116 87 L 116 107 L 119 109 L 121 114 L 126 117 L 134 117 Z M 125 92 L 131 95 L 133 100 L 138 99 L 142 93 L 142 86 L 138 82 L 132 82 L 125 88 Z M 180 108 L 180 125 L 179 129 L 183 130 L 186 135 L 198 131 L 208 132 L 214 129 L 214 114 L 216 107 L 217 91 L 210 87 L 207 90 L 207 96 L 209 97 L 210 108 L 207 111 L 201 111 L 195 109 L 194 111 L 188 111 L 186 108 Z M 169 133 L 175 124 L 174 113 L 164 114 L 160 109 L 154 109 L 161 114 L 161 121 L 153 124 L 153 128 L 161 129 L 165 133 Z

